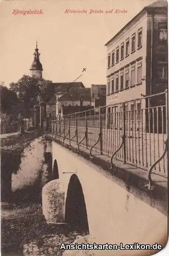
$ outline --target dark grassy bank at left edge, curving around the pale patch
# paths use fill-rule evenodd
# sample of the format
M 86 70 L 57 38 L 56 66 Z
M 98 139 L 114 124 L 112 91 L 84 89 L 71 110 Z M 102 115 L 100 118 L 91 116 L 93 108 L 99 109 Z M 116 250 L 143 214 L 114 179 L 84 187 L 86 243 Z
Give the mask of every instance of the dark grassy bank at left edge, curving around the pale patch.
M 11 189 L 11 175 L 17 173 L 25 148 L 39 135 L 33 131 L 1 139 L 1 201 L 10 203 L 9 209 L 1 208 L 2 253 L 19 253 L 23 241 L 48 232 L 41 209 L 41 177 L 14 192 Z

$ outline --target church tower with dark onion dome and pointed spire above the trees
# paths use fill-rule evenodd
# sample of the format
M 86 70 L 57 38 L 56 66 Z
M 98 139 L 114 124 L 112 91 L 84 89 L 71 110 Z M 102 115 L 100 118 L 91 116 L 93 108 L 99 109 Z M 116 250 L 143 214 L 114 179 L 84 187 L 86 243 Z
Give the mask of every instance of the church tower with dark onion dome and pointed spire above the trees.
M 31 66 L 31 77 L 33 78 L 37 78 L 37 79 L 41 79 L 42 78 L 42 65 L 39 61 L 39 49 L 38 49 L 38 46 L 37 46 L 37 41 L 36 41 L 36 49 L 35 49 L 35 52 L 34 52 L 34 60 L 32 62 L 32 66 Z

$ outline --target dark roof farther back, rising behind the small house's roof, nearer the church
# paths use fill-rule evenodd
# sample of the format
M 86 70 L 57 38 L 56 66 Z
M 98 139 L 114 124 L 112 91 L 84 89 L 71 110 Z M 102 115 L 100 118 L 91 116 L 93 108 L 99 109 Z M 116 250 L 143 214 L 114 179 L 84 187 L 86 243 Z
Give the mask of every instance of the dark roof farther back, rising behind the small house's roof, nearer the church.
M 85 88 L 82 82 L 54 82 L 55 92 L 67 92 L 71 88 Z

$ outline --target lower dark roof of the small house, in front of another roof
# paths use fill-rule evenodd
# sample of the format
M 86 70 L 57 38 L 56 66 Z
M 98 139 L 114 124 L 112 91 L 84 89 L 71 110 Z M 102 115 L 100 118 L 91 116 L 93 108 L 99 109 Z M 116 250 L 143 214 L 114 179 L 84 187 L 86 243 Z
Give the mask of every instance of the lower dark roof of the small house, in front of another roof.
M 58 100 L 71 100 L 76 101 L 83 98 L 83 101 L 91 101 L 91 89 L 90 88 L 73 88 L 70 89 L 67 93 L 61 96 Z

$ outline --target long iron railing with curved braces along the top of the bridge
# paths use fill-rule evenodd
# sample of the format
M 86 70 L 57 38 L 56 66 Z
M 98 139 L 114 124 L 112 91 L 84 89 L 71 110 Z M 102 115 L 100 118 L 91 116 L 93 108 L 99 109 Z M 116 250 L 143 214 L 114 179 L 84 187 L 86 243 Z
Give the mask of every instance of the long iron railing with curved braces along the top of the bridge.
M 45 130 L 78 148 L 167 177 L 167 91 L 44 121 Z M 161 156 L 162 159 L 161 159 Z M 158 161 L 158 159 L 160 159 Z

